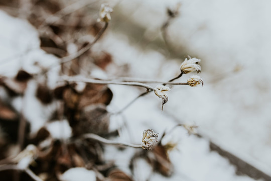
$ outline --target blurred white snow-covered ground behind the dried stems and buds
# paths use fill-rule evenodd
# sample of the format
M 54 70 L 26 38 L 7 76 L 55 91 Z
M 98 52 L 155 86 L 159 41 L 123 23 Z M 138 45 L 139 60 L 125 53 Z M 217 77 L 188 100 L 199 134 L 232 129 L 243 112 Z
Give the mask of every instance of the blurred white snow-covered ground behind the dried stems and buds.
M 166 20 L 166 7 L 173 7 L 179 1 L 115 2 L 119 11 L 115 14 L 144 29 L 144 38 L 152 35 L 156 39 L 161 37 L 160 27 Z M 172 114 L 182 123 L 196 123 L 205 138 L 271 175 L 271 23 L 268 20 L 271 3 L 233 0 L 180 2 L 181 15 L 169 26 L 169 40 L 175 49 L 180 47 L 177 53 L 202 60 L 200 76 L 204 86 L 174 86 L 163 112 L 161 100 L 154 94 L 140 98 L 123 113 L 128 133 L 121 133 L 120 139 L 140 143 L 143 130 L 149 128 L 163 133 L 176 125 L 176 121 L 168 116 Z M 0 29 L 2 75 L 15 75 L 21 65 L 34 73 L 37 67 L 32 63 L 41 58 L 44 59 L 41 62 L 48 65 L 56 61 L 39 49 L 38 33 L 27 22 L 1 11 L 0 20 L 3 24 Z M 179 73 L 183 57 L 171 59 L 149 47 L 142 51 L 141 44 L 133 45 L 123 32 L 110 31 L 109 26 L 109 31 L 93 50 L 102 46 L 113 55 L 115 64 L 128 64 L 127 74 L 130 76 L 166 81 Z M 110 69 L 107 71 L 116 73 Z M 185 82 L 188 76 L 183 76 L 180 81 Z M 52 75 L 52 82 L 53 79 Z M 110 88 L 114 94 L 110 111 L 118 111 L 142 93 L 134 87 L 122 85 Z M 179 141 L 179 151 L 170 153 L 175 174 L 171 178 L 154 174 L 151 180 L 253 180 L 235 175 L 234 166 L 227 159 L 209 151 L 208 140 L 188 136 L 182 128 L 176 129 L 172 139 Z M 116 159 L 120 168 L 128 172 L 126 161 L 133 149 L 119 151 L 108 146 L 106 150 L 105 157 Z M 146 168 L 143 170 L 148 170 L 148 164 L 139 164 Z M 142 175 L 136 176 L 138 180 L 144 180 Z

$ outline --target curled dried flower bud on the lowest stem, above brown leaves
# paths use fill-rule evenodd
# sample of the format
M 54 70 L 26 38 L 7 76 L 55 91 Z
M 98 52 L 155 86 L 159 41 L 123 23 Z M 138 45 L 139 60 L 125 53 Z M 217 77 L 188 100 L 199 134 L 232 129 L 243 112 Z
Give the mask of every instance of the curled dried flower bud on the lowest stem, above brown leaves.
M 151 150 L 156 142 L 158 142 L 158 135 L 152 129 L 145 130 L 142 138 L 142 148 Z

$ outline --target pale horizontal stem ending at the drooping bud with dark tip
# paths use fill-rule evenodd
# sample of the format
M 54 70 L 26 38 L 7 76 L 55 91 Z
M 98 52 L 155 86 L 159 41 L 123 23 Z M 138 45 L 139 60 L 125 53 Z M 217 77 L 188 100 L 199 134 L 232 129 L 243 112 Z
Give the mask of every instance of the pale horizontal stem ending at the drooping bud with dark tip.
M 154 87 L 140 82 L 122 82 L 122 81 L 113 81 L 113 80 L 97 80 L 93 78 L 85 77 L 72 77 L 72 76 L 62 76 L 62 79 L 68 82 L 80 81 L 87 83 L 96 83 L 96 84 L 117 84 L 117 85 L 131 85 L 131 86 L 140 86 L 147 88 L 148 90 L 154 91 Z

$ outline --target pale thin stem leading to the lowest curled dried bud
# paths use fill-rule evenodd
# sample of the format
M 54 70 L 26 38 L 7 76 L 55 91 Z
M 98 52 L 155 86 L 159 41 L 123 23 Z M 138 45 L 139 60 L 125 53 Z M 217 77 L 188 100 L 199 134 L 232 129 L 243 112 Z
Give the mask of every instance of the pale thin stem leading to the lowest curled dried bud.
M 142 148 L 142 146 L 140 144 L 131 144 L 131 143 L 125 143 L 125 142 L 120 142 L 120 141 L 108 140 L 108 139 L 105 139 L 105 138 L 100 137 L 100 136 L 93 134 L 93 133 L 84 134 L 82 137 L 84 139 L 93 139 L 93 140 L 99 141 L 104 144 L 109 144 L 109 145 L 128 146 L 128 147 L 132 147 L 132 148 Z

